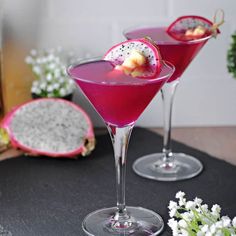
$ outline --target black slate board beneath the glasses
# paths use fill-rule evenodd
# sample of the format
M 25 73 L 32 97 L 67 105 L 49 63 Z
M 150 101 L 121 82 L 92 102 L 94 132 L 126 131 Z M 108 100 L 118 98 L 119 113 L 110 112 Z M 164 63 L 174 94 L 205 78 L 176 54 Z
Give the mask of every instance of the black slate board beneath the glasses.
M 236 167 L 183 144 L 173 150 L 197 157 L 204 164 L 198 177 L 157 182 L 132 171 L 136 158 L 161 151 L 162 138 L 135 128 L 129 145 L 127 205 L 152 209 L 168 220 L 167 205 L 182 190 L 189 199 L 218 203 L 223 214 L 236 215 Z M 80 236 L 86 214 L 115 206 L 115 172 L 108 135 L 97 136 L 95 151 L 78 160 L 19 157 L 0 163 L 0 225 L 13 236 Z M 171 235 L 168 226 L 162 235 Z

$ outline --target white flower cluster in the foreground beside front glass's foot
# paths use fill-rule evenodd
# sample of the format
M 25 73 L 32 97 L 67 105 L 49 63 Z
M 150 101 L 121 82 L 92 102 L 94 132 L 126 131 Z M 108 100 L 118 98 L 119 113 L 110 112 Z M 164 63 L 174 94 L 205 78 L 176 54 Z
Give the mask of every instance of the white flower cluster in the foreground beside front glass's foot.
M 219 205 L 209 209 L 200 198 L 187 201 L 181 191 L 175 197 L 178 201 L 170 201 L 168 206 L 173 236 L 236 236 L 236 217 L 221 217 Z

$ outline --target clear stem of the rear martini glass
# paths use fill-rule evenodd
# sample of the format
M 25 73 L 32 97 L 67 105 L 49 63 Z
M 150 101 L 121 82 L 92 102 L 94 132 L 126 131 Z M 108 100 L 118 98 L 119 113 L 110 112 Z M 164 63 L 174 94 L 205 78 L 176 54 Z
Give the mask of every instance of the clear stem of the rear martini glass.
M 164 108 L 164 139 L 162 151 L 164 154 L 163 162 L 168 166 L 173 162 L 171 150 L 171 120 L 174 95 L 178 84 L 179 80 L 174 80 L 173 82 L 166 83 L 161 89 Z

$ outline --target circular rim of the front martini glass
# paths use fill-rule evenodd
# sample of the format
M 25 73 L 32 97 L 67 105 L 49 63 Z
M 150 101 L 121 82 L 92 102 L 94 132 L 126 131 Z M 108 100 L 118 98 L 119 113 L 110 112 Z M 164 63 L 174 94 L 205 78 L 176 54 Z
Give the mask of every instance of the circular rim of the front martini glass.
M 88 80 L 88 79 L 83 79 L 83 78 L 78 78 L 74 75 L 72 75 L 72 73 L 70 72 L 71 69 L 74 69 L 80 65 L 83 64 L 88 64 L 88 63 L 92 63 L 92 62 L 102 62 L 102 61 L 106 61 L 103 60 L 101 57 L 91 57 L 91 58 L 85 58 L 85 59 L 81 59 L 76 63 L 72 63 L 71 65 L 69 65 L 66 69 L 67 74 L 70 78 L 74 79 L 74 80 L 79 80 L 79 81 L 84 81 L 87 83 L 91 83 L 91 84 L 102 84 L 102 85 L 128 85 L 127 82 L 108 82 L 108 81 L 103 81 L 103 82 L 96 82 L 96 81 L 92 81 L 92 80 Z M 175 66 L 170 63 L 169 61 L 166 60 L 162 60 L 163 65 L 169 69 L 169 73 L 166 73 L 165 75 L 159 77 L 159 75 L 161 74 L 161 72 L 157 75 L 156 78 L 150 78 L 150 79 L 146 79 L 146 78 L 137 78 L 137 77 L 131 77 L 132 79 L 134 79 L 137 83 L 133 83 L 133 85 L 138 86 L 138 85 L 143 85 L 143 84 L 151 84 L 151 83 L 155 83 L 156 81 L 160 81 L 160 80 L 164 80 L 164 79 L 168 79 L 170 78 L 173 73 L 175 72 Z M 168 81 L 168 80 L 167 80 Z

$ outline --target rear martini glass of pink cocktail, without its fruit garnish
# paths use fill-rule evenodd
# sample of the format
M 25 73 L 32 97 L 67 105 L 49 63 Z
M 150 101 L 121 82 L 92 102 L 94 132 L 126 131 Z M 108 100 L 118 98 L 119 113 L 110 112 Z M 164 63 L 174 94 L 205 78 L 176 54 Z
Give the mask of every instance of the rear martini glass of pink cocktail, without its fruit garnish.
M 165 60 L 175 66 L 175 72 L 161 89 L 164 104 L 164 138 L 162 153 L 143 156 L 133 164 L 134 171 L 145 178 L 177 181 L 197 176 L 202 163 L 193 156 L 174 153 L 171 147 L 171 117 L 174 95 L 179 78 L 211 36 L 187 42 L 177 41 L 166 32 L 166 27 L 138 27 L 124 31 L 127 39 L 149 36 L 154 40 Z

